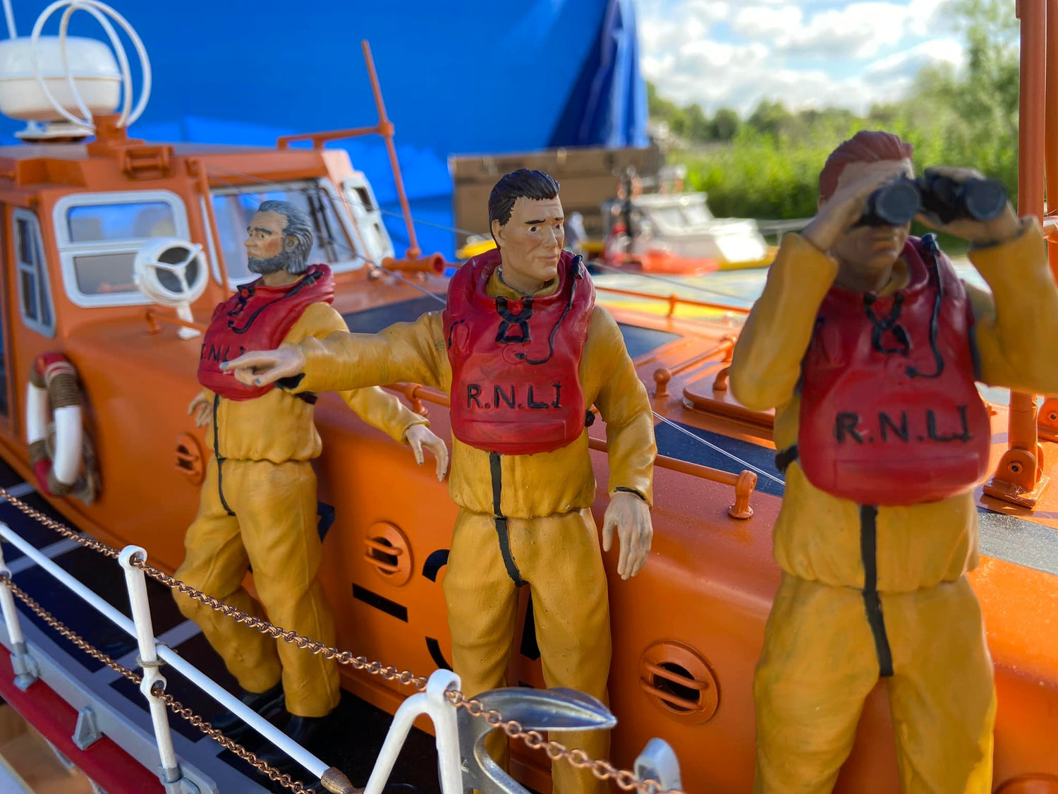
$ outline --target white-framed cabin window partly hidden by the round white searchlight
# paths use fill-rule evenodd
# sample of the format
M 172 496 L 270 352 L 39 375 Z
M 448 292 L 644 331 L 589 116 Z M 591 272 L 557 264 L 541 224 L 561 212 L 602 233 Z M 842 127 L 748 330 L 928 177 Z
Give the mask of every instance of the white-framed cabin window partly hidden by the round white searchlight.
M 151 239 L 190 238 L 183 202 L 168 191 L 66 196 L 54 217 L 67 294 L 78 306 L 148 303 L 132 277 L 136 253 Z

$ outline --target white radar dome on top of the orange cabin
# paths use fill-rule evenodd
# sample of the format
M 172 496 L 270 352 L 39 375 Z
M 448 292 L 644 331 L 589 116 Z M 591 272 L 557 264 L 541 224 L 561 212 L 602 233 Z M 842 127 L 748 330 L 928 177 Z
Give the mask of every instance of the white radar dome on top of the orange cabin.
M 114 112 L 121 101 L 122 73 L 110 48 L 103 41 L 75 36 L 67 36 L 65 44 L 70 74 L 85 107 L 93 114 Z M 65 122 L 34 77 L 33 51 L 29 37 L 0 41 L 0 113 L 26 122 Z M 77 101 L 67 79 L 59 37 L 39 37 L 36 51 L 40 75 L 56 104 L 76 113 Z

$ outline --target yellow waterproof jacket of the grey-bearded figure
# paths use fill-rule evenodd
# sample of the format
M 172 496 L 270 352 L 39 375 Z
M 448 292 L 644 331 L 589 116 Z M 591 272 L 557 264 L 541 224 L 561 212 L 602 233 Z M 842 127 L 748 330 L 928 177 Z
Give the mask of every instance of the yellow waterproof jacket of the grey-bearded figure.
M 346 328 L 345 321 L 329 304 L 315 303 L 298 318 L 282 344 L 298 344 Z M 209 449 L 233 461 L 309 461 L 323 449 L 312 421 L 313 407 L 281 389 L 272 389 L 252 400 L 229 400 L 203 390 L 213 401 L 213 426 L 206 433 Z M 342 393 L 342 399 L 361 419 L 403 441 L 412 425 L 428 423 L 405 408 L 396 395 L 373 389 Z

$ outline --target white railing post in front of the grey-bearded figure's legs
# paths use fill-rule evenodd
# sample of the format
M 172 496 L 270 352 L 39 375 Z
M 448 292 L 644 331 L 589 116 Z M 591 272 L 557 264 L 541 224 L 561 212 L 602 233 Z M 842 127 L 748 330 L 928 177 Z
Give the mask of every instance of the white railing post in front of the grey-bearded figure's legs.
M 154 741 L 158 743 L 158 754 L 162 762 L 162 783 L 167 792 L 183 791 L 179 781 L 183 777 L 180 764 L 177 763 L 177 753 L 172 748 L 172 735 L 169 733 L 169 715 L 161 698 L 156 698 L 151 690 L 160 684 L 165 690 L 165 676 L 158 671 L 158 652 L 154 649 L 154 628 L 150 620 L 150 606 L 147 603 L 147 580 L 143 571 L 132 564 L 132 560 L 147 561 L 147 552 L 140 546 L 125 546 L 117 561 L 125 569 L 125 584 L 129 591 L 129 606 L 132 608 L 132 622 L 135 625 L 136 640 L 140 644 L 138 662 L 143 668 L 143 681 L 140 691 L 150 706 L 150 720 L 154 724 Z

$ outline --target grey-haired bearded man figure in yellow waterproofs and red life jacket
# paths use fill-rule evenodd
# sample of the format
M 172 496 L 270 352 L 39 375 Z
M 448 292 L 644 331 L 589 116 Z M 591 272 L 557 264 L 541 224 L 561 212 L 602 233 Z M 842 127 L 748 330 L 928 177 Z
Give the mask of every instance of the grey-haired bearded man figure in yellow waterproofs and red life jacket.
M 184 538 L 186 555 L 177 578 L 250 614 L 263 616 L 243 589 L 252 565 L 254 584 L 268 619 L 327 645 L 334 620 L 316 580 L 321 542 L 316 531 L 316 477 L 312 458 L 321 453 L 312 422 L 315 398 L 271 386 L 248 387 L 220 369 L 221 363 L 262 343 L 293 345 L 346 327 L 330 303 L 334 277 L 326 265 L 309 265 L 312 225 L 305 213 L 284 201 L 266 201 L 247 229 L 250 270 L 260 278 L 214 311 L 199 362 L 205 387 L 188 413 L 201 427 L 213 425 L 213 456 L 202 485 L 199 512 Z M 437 475 L 448 465 L 444 443 L 426 420 L 381 389 L 343 393 L 364 421 L 394 440 L 437 457 Z M 286 696 L 293 715 L 286 730 L 305 743 L 339 701 L 338 665 L 248 629 L 208 607 L 177 596 L 180 611 L 195 620 L 224 658 L 260 712 Z M 281 681 L 280 681 L 281 679 Z M 225 714 L 214 725 L 230 735 L 244 732 Z M 285 759 L 275 753 L 271 763 Z

